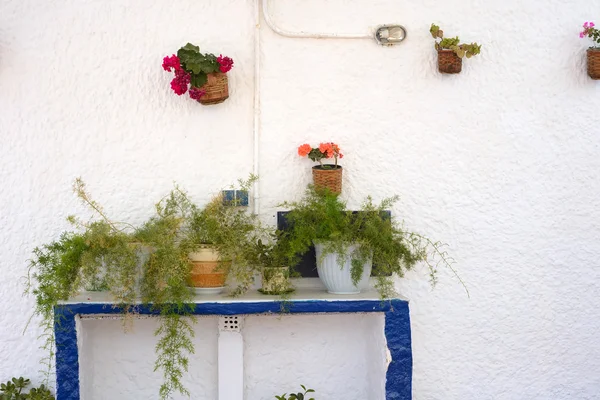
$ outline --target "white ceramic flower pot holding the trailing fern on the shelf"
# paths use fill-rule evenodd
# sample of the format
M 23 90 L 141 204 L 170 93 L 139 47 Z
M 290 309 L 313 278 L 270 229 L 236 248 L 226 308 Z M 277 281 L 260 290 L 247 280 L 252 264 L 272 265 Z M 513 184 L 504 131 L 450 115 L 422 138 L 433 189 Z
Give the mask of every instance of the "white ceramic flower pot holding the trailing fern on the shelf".
M 363 268 L 363 274 L 360 280 L 355 285 L 352 282 L 352 274 L 350 273 L 352 263 L 351 254 L 357 246 L 348 247 L 348 254 L 344 257 L 343 267 L 340 268 L 337 253 L 330 253 L 323 257 L 322 244 L 315 244 L 315 252 L 317 256 L 317 272 L 319 278 L 327 288 L 327 291 L 332 294 L 358 294 L 361 290 L 366 290 L 369 287 L 369 277 L 371 276 L 371 268 L 373 260 L 369 259 Z

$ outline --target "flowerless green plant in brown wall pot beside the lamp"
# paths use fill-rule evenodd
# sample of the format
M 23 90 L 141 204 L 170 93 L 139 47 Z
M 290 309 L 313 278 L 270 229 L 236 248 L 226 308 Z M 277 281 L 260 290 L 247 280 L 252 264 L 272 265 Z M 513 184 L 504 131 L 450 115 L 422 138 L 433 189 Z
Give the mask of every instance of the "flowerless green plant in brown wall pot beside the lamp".
M 439 26 L 431 24 L 431 36 L 436 39 L 435 49 L 438 52 L 438 70 L 443 74 L 458 74 L 462 70 L 462 59 L 471 58 L 481 52 L 477 43 L 460 44 L 460 39 L 444 38 L 444 31 Z M 440 39 L 438 42 L 437 39 Z

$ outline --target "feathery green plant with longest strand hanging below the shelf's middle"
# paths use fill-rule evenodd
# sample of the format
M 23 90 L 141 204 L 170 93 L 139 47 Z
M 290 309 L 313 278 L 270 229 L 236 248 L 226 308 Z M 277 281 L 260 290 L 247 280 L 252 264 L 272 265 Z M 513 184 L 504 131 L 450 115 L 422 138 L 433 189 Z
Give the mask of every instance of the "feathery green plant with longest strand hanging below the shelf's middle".
M 148 248 L 143 262 L 142 301 L 160 313 L 160 325 L 155 331 L 155 371 L 162 371 L 164 382 L 161 399 L 173 393 L 188 395 L 181 383 L 187 372 L 188 354 L 194 353 L 192 324 L 195 318 L 193 294 L 188 287 L 191 251 L 187 240 L 187 224 L 196 206 L 185 192 L 176 187 L 155 206 L 155 215 L 135 232 L 135 237 Z

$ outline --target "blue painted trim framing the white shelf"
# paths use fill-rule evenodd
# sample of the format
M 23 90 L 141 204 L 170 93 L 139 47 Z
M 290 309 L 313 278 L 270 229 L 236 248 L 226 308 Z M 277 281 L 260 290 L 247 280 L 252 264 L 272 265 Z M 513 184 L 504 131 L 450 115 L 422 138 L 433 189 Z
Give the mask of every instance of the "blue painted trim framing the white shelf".
M 385 337 L 392 356 L 386 375 L 386 400 L 411 400 L 412 350 L 408 302 L 394 299 L 380 300 L 292 300 L 286 304 L 289 313 L 385 313 Z M 196 303 L 193 313 L 198 315 L 242 315 L 279 313 L 281 303 Z M 78 314 L 120 314 L 112 304 L 74 303 L 54 309 L 56 322 L 56 400 L 79 400 L 79 350 L 75 316 Z M 156 315 L 149 306 L 140 306 L 140 314 Z

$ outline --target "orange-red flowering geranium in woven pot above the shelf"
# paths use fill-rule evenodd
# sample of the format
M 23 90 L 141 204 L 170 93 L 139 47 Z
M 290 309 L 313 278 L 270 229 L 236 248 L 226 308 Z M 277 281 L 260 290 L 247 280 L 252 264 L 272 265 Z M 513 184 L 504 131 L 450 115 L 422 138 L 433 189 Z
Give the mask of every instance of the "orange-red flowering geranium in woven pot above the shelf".
M 338 165 L 338 158 L 343 158 L 340 147 L 333 143 L 320 143 L 319 147 L 303 144 L 298 147 L 300 157 L 308 157 L 319 165 L 315 165 L 313 171 L 313 182 L 316 188 L 327 188 L 331 192 L 342 193 L 342 166 Z M 334 159 L 333 164 L 323 164 L 323 159 Z

